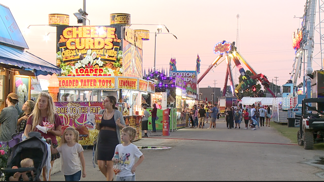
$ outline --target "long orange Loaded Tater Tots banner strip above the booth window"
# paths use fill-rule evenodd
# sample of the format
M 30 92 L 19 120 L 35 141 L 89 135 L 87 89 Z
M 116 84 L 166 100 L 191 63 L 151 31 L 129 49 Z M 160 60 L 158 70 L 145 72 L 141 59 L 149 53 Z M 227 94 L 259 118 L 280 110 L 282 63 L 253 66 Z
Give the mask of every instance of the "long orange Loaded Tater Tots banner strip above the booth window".
M 58 77 L 60 88 L 115 89 L 115 77 Z

